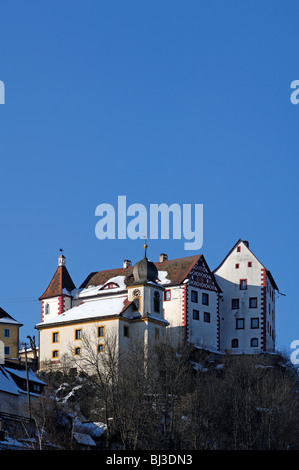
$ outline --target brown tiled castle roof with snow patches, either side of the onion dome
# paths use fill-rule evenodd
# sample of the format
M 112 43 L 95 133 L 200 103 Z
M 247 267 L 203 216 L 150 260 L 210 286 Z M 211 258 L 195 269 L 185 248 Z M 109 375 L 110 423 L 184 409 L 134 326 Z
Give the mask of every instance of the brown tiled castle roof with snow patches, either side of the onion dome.
M 162 285 L 181 284 L 201 257 L 202 255 L 187 256 L 185 258 L 177 258 L 165 260 L 161 263 L 154 263 L 158 270 L 159 283 Z M 135 281 L 133 276 L 133 266 L 93 272 L 89 274 L 81 284 L 80 289 L 87 289 L 91 286 L 104 286 L 108 281 L 110 282 L 119 276 L 124 277 L 125 287 L 131 286 Z

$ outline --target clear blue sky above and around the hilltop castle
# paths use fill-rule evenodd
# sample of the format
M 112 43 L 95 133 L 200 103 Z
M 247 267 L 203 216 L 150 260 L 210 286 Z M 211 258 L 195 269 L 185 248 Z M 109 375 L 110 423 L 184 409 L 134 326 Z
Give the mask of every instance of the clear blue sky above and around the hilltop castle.
M 63 247 L 77 286 L 133 263 L 95 236 L 95 208 L 204 205 L 211 269 L 239 238 L 271 270 L 277 346 L 298 331 L 296 1 L 2 2 L 0 305 L 37 334 Z M 149 257 L 186 252 L 149 240 Z

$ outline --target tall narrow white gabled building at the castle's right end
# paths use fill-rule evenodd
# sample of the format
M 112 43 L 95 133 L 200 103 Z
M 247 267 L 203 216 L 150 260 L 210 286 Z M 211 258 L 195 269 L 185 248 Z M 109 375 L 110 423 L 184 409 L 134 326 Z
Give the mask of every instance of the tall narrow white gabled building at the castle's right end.
M 222 290 L 220 348 L 230 353 L 275 350 L 275 293 L 271 272 L 238 240 L 214 270 Z

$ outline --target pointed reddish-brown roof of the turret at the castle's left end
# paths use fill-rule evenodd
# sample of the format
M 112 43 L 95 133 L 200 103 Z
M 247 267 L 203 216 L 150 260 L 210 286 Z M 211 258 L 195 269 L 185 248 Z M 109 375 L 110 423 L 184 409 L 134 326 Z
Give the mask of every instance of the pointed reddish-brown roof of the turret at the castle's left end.
M 71 295 L 71 291 L 76 289 L 71 276 L 65 266 L 65 256 L 61 254 L 58 258 L 58 268 L 46 291 L 39 298 L 39 300 L 47 299 L 50 297 L 57 297 L 59 295 Z

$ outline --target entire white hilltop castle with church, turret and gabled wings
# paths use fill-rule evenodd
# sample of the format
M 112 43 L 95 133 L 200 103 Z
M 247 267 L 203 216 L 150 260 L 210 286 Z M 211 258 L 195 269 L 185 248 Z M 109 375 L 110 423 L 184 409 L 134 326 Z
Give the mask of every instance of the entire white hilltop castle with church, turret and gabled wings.
M 83 335 L 95 333 L 98 354 L 111 333 L 121 351 L 142 338 L 151 345 L 171 331 L 176 341 L 229 353 L 275 349 L 275 291 L 270 273 L 239 240 L 212 272 L 203 255 L 158 262 L 144 258 L 132 266 L 89 274 L 76 288 L 63 255 L 40 297 L 40 366 L 59 365 L 70 350 L 84 356 Z M 71 345 L 71 347 L 70 347 Z

